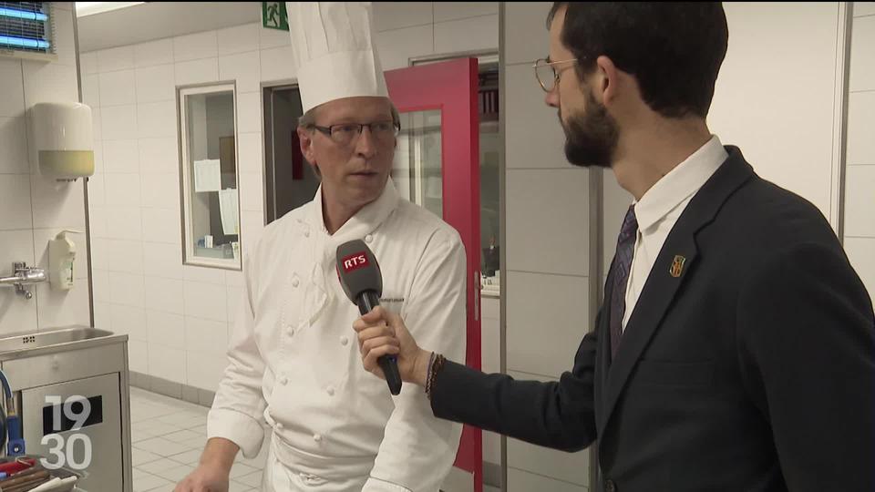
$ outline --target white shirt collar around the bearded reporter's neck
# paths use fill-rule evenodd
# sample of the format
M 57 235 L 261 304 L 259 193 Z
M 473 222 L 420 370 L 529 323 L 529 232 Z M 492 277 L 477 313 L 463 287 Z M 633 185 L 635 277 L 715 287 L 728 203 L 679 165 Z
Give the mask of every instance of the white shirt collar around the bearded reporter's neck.
M 690 157 L 656 181 L 641 200 L 635 203 L 638 230 L 647 231 L 663 220 L 669 212 L 702 188 L 711 175 L 726 160 L 728 154 L 716 135 L 705 142 Z

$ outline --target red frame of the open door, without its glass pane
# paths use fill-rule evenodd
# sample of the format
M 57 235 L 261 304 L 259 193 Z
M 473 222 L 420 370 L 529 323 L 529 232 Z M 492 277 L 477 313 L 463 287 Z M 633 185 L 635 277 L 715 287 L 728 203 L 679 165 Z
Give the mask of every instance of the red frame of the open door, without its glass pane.
M 480 167 L 477 58 L 386 72 L 389 96 L 401 113 L 440 109 L 443 219 L 456 228 L 468 256 L 468 350 L 466 364 L 480 368 Z M 479 428 L 465 425 L 456 466 L 474 475 L 483 490 L 483 443 Z

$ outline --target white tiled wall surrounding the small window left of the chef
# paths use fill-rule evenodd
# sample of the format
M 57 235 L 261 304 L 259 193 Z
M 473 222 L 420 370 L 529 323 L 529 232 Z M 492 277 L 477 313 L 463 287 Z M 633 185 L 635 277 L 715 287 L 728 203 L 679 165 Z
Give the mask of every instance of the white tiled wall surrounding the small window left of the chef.
M 95 323 L 129 333 L 131 370 L 212 391 L 236 299 L 228 298 L 232 273 L 182 265 L 176 87 L 218 80 L 220 67 L 223 80 L 237 79 L 239 122 L 251 132 L 242 140 L 253 143 L 240 149 L 241 165 L 261 169 L 260 30 L 239 26 L 82 55 L 83 92 L 100 118 L 89 186 Z M 248 184 L 261 193 L 260 178 Z M 252 213 L 242 216 L 251 240 L 262 229 L 261 202 L 247 201 Z

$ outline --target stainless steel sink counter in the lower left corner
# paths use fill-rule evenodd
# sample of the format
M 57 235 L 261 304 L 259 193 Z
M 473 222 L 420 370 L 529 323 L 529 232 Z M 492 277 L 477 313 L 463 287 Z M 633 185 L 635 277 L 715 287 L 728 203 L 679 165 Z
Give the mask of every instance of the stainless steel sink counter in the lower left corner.
M 82 490 L 131 492 L 128 335 L 88 326 L 9 333 L 0 366 L 28 455 L 78 466 Z

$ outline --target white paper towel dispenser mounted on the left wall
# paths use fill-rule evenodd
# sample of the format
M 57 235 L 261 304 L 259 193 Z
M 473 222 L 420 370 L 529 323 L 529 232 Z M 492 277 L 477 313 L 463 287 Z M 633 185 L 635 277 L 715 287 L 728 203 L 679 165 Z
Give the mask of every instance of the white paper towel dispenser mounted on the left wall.
M 91 108 L 81 103 L 38 103 L 30 108 L 31 159 L 44 176 L 75 180 L 94 174 Z

